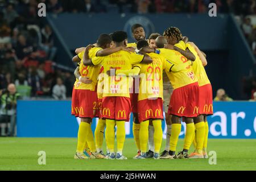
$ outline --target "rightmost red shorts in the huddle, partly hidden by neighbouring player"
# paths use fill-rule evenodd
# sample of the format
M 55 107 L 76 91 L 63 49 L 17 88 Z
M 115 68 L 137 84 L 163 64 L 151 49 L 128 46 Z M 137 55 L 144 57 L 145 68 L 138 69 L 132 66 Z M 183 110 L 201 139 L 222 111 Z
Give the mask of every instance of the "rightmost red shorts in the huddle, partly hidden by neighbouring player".
M 212 85 L 199 86 L 199 114 L 213 115 Z

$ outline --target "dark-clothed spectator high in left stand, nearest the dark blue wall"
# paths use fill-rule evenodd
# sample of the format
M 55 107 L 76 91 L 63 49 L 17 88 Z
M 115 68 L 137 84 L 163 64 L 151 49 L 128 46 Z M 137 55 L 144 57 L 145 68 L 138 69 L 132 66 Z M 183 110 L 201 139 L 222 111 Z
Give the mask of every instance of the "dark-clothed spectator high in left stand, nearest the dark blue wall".
M 42 30 L 42 48 L 46 51 L 49 60 L 53 60 L 57 48 L 53 46 L 52 28 L 47 24 Z

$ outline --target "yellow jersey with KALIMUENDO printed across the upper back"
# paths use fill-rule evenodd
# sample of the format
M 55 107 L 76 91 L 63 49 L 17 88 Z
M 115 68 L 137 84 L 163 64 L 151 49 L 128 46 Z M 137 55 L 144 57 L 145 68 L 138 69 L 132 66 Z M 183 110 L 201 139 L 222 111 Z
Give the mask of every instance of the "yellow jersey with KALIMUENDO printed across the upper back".
M 101 64 L 104 67 L 104 73 L 110 69 L 129 70 L 133 64 L 141 63 L 143 55 L 130 53 L 127 51 L 118 51 L 105 57 L 94 57 L 93 65 Z M 129 97 L 130 77 L 125 75 L 104 77 L 104 92 L 102 97 Z

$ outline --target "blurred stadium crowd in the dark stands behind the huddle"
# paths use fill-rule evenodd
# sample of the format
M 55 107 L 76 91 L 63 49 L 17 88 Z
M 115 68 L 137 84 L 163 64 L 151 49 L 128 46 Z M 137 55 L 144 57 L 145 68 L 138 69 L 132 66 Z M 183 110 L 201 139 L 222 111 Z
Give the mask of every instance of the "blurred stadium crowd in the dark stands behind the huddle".
M 0 90 L 14 83 L 20 97 L 71 97 L 75 77 L 57 69 L 53 31 L 38 17 L 38 3 L 47 5 L 47 13 L 207 13 L 211 2 L 220 13 L 241 17 L 256 14 L 255 0 L 0 0 Z M 256 55 L 256 28 L 248 18 L 242 30 Z M 252 77 L 245 81 L 246 92 L 256 91 Z

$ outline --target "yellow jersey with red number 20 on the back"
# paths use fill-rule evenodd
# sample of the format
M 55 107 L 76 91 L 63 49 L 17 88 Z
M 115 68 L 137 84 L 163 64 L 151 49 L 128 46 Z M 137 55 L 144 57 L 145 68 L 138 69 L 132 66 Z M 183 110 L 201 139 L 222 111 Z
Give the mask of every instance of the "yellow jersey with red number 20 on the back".
M 165 59 L 156 53 L 148 53 L 153 60 L 151 64 L 135 64 L 139 67 L 139 95 L 138 101 L 150 98 L 163 99 L 163 69 L 165 69 Z

